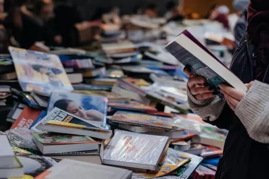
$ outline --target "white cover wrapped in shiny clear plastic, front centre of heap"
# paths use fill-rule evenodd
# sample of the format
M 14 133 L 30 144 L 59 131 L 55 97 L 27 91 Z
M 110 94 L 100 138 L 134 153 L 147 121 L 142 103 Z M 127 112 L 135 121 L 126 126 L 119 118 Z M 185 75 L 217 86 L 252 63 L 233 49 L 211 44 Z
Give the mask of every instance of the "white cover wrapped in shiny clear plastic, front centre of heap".
M 156 166 L 168 139 L 115 130 L 114 137 L 104 151 L 104 163 L 114 161 Z

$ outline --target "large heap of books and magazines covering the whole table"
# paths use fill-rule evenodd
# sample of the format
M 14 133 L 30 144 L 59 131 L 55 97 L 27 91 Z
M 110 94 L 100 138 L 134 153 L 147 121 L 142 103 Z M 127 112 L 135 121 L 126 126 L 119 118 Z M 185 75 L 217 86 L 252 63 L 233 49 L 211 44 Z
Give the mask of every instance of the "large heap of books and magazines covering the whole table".
M 229 63 L 214 23 L 173 26 L 96 51 L 37 43 L 0 55 L 0 178 L 214 178 L 227 131 L 192 113 L 183 67 L 242 86 L 203 61 Z

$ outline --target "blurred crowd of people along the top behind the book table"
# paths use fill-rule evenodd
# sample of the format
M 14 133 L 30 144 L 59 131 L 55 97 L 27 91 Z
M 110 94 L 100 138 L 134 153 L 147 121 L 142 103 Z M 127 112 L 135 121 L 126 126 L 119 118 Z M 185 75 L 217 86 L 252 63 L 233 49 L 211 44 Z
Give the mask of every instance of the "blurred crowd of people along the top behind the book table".
M 226 6 L 213 5 L 205 16 L 183 9 L 174 1 L 166 4 L 163 18 L 167 22 L 183 19 L 217 20 L 227 30 L 234 31 L 241 19 L 248 1 L 234 1 L 236 12 L 230 14 Z M 136 6 L 132 14 L 120 15 L 118 7 L 97 8 L 91 20 L 102 24 L 122 26 L 122 21 L 132 15 L 158 16 L 158 6 L 148 4 L 146 8 Z M 35 42 L 46 46 L 72 47 L 77 43 L 77 25 L 85 24 L 79 10 L 68 0 L 0 0 L 0 53 L 6 53 L 8 46 L 29 49 Z M 87 19 L 89 20 L 89 19 Z M 242 24 L 242 23 L 241 23 Z M 243 30 L 245 28 L 242 28 Z

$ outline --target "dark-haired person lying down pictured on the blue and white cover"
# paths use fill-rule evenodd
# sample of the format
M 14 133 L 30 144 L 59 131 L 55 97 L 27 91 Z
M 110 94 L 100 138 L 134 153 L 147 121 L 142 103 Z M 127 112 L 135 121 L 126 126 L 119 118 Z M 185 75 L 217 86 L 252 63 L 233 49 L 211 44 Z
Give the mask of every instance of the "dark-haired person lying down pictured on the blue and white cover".
M 91 121 L 103 121 L 104 120 L 104 114 L 102 114 L 98 110 L 95 110 L 95 109 L 85 110 L 84 107 L 82 107 L 80 104 L 76 103 L 73 100 L 60 99 L 54 103 L 53 107 L 58 107 L 82 119 L 91 120 Z

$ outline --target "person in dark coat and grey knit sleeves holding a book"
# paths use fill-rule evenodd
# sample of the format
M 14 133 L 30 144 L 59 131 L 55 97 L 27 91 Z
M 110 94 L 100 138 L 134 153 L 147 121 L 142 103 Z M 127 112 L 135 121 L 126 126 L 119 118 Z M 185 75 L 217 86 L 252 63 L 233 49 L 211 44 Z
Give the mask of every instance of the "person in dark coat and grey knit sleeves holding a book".
M 222 99 L 204 78 L 185 68 L 194 113 L 229 130 L 216 179 L 269 177 L 269 2 L 251 0 L 247 9 L 248 26 L 230 67 L 246 83 L 246 93 L 221 84 Z

